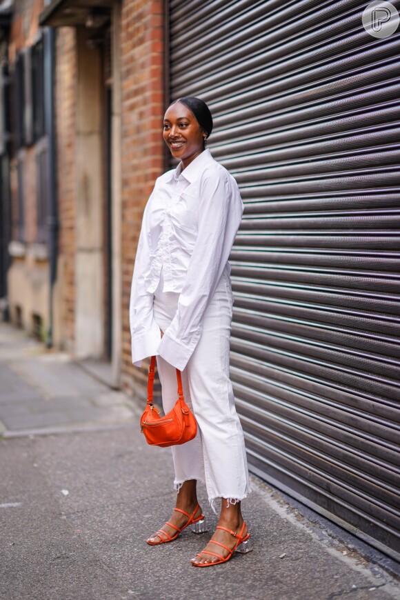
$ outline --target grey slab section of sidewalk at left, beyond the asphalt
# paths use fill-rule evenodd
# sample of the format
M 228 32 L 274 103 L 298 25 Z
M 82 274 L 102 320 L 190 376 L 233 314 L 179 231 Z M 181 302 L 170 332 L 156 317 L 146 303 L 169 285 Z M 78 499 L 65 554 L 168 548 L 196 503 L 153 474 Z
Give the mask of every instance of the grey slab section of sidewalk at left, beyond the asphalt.
M 111 391 L 68 354 L 46 351 L 4 323 L 0 381 L 0 432 L 5 436 L 115 426 L 133 419 L 126 394 Z

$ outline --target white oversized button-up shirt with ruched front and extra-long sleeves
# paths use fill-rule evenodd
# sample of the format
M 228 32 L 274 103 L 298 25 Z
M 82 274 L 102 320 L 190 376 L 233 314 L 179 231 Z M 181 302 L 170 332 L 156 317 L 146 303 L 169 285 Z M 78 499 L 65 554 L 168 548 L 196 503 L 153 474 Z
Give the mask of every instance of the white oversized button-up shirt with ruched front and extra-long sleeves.
M 201 336 L 203 314 L 225 271 L 243 214 L 232 175 L 203 150 L 185 169 L 159 177 L 143 213 L 130 295 L 132 363 L 158 354 L 183 370 Z M 161 338 L 154 291 L 179 292 L 177 312 Z

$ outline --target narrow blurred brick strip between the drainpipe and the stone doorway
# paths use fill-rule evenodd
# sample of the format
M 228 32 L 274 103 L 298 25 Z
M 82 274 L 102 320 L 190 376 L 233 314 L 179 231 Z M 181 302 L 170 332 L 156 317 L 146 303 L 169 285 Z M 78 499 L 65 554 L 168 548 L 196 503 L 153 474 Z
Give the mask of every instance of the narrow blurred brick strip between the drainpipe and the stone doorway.
M 71 350 L 75 321 L 75 132 L 77 110 L 77 31 L 57 29 L 55 120 L 57 131 L 57 195 L 59 206 L 58 278 L 61 286 L 61 341 Z

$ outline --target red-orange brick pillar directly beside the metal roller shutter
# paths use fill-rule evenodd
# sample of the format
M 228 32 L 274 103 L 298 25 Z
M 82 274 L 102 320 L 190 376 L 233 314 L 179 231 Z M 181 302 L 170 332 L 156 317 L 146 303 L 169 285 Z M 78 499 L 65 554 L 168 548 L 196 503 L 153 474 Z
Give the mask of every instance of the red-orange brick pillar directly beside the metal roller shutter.
M 121 13 L 122 79 L 122 302 L 121 381 L 143 393 L 146 370 L 132 366 L 130 284 L 144 206 L 164 170 L 162 139 L 163 1 L 124 1 Z

